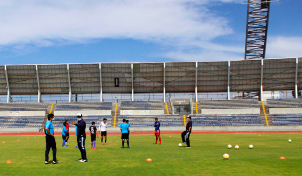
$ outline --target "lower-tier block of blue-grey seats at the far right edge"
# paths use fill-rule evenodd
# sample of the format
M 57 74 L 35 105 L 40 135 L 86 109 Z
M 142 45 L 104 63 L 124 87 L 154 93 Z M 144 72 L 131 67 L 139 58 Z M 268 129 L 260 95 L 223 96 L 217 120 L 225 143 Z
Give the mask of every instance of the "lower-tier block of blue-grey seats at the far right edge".
M 274 126 L 302 125 L 302 114 L 273 114 Z

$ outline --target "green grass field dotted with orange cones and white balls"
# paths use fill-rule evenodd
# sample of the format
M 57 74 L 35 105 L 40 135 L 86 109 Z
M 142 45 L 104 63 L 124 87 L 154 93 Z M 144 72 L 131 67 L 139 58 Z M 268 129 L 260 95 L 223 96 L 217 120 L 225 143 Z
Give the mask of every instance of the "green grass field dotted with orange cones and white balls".
M 171 136 L 171 137 L 169 137 Z M 36 138 L 34 138 L 36 137 Z M 29 138 L 27 140 L 27 138 Z M 120 135 L 90 148 L 88 162 L 80 163 L 75 136 L 63 148 L 56 136 L 58 165 L 44 165 L 44 136 L 0 136 L 0 175 L 300 175 L 302 134 L 192 134 L 192 148 L 178 147 L 179 135 L 161 135 L 163 145 L 152 145 L 154 135 L 131 135 L 130 149 L 121 149 Z M 292 142 L 287 142 L 292 139 Z M 17 142 L 19 140 L 19 142 Z M 2 142 L 5 142 L 3 144 Z M 232 149 L 227 145 L 231 144 Z M 254 145 L 249 149 L 249 145 Z M 240 149 L 235 150 L 234 146 Z M 230 158 L 224 160 L 222 155 Z M 286 159 L 279 159 L 284 156 Z M 52 159 L 52 151 L 49 153 Z M 152 162 L 146 159 L 151 158 Z M 6 161 L 12 163 L 6 163 Z

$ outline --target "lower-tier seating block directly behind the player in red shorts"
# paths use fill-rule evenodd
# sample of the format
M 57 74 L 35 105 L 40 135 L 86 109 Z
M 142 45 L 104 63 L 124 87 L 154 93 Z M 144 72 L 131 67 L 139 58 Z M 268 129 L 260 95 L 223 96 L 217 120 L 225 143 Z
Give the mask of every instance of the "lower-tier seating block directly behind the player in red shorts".
M 130 127 L 154 127 L 154 119 L 158 118 L 161 126 L 182 126 L 179 115 L 120 115 L 117 127 L 123 123 L 123 119 L 129 120 Z

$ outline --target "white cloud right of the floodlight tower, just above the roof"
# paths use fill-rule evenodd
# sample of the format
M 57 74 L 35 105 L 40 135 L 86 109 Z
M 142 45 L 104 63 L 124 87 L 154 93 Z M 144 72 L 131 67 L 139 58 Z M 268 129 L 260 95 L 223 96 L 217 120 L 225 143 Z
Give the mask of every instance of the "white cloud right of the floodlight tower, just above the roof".
M 302 57 L 302 37 L 269 37 L 266 58 Z

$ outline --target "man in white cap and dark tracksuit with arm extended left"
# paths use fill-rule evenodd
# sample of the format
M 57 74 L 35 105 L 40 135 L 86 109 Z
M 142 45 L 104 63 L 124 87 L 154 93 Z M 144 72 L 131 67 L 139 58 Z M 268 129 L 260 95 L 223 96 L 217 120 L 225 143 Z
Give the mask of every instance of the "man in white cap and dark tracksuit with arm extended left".
M 73 125 L 76 125 L 77 127 L 77 136 L 76 140 L 78 142 L 78 146 L 81 152 L 82 159 L 80 159 L 80 162 L 88 162 L 87 156 L 86 156 L 86 149 L 85 149 L 85 140 L 86 140 L 86 122 L 83 120 L 83 115 L 81 113 L 78 113 L 77 115 L 78 123 L 72 122 Z

